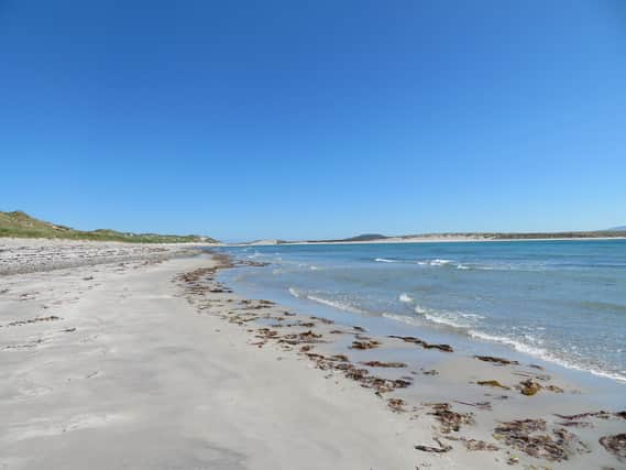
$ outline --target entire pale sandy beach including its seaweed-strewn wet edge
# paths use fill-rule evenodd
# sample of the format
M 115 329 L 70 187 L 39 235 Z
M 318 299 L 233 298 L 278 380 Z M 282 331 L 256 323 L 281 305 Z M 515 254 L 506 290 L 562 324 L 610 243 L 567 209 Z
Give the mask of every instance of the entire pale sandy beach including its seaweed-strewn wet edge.
M 0 468 L 626 464 L 626 416 L 592 390 L 243 298 L 218 280 L 228 258 L 36 240 L 0 250 Z

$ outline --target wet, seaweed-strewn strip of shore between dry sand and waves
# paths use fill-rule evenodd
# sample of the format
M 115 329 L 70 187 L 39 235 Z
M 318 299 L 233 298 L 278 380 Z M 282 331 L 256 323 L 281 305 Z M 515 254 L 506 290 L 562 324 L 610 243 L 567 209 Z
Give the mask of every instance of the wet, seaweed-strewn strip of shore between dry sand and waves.
M 228 262 L 224 267 L 233 266 L 231 262 Z M 215 278 L 209 280 L 209 282 L 213 283 L 212 285 L 217 286 L 218 291 L 223 289 L 228 295 L 232 295 L 232 291 L 221 282 L 215 284 Z M 239 315 L 233 317 L 232 314 L 223 310 L 219 315 L 222 318 L 230 318 L 231 321 L 241 321 L 242 326 L 250 327 L 251 325 L 259 326 L 257 324 L 260 324 L 261 328 L 256 330 L 260 335 L 255 335 L 257 340 L 254 343 L 259 348 L 263 348 L 273 341 L 284 343 L 285 338 L 287 338 L 287 345 L 294 345 L 293 350 L 298 354 L 308 357 L 317 368 L 334 370 L 336 374 L 343 373 L 349 380 L 361 382 L 361 386 L 373 389 L 375 394 L 384 397 L 388 406 L 396 413 L 408 413 L 409 416 L 411 413 L 416 413 L 410 416 L 410 419 L 414 422 L 424 419 L 425 411 L 427 411 L 427 415 L 441 416 L 437 411 L 435 413 L 428 412 L 429 407 L 437 408 L 439 406 L 444 408 L 443 415 L 447 418 L 453 419 L 457 424 L 466 425 L 459 426 L 459 429 L 454 428 L 454 430 L 461 430 L 460 428 L 462 427 L 463 434 L 466 433 L 469 435 L 450 436 L 450 429 L 447 427 L 450 423 L 446 420 L 447 418 L 439 419 L 439 428 L 437 420 L 432 423 L 428 422 L 428 419 L 426 423 L 422 422 L 424 427 L 439 429 L 439 433 L 435 433 L 432 436 L 436 442 L 450 438 L 453 441 L 463 442 L 465 450 L 470 452 L 476 450 L 493 452 L 493 456 L 491 456 L 493 460 L 485 460 L 482 462 L 482 466 L 491 468 L 494 463 L 497 466 L 504 461 L 508 461 L 509 464 L 523 462 L 529 466 L 547 463 L 542 458 L 534 458 L 541 455 L 541 451 L 538 455 L 536 453 L 537 446 L 541 448 L 542 445 L 546 445 L 546 448 L 543 448 L 543 451 L 546 451 L 554 442 L 539 442 L 534 440 L 535 437 L 531 434 L 524 435 L 521 433 L 521 436 L 518 436 L 521 439 L 531 441 L 530 448 L 523 449 L 524 446 L 516 447 L 515 445 L 513 448 L 507 448 L 506 446 L 498 447 L 501 446 L 501 439 L 503 439 L 503 436 L 498 435 L 498 429 L 501 429 L 498 423 L 502 424 L 504 419 L 512 419 L 507 422 L 508 424 L 530 422 L 542 426 L 542 430 L 551 430 L 554 434 L 563 431 L 567 427 L 568 439 L 565 440 L 569 444 L 561 441 L 561 445 L 564 446 L 561 448 L 563 458 L 558 458 L 554 455 L 548 456 L 547 460 L 550 468 L 561 468 L 561 466 L 563 468 L 589 468 L 596 463 L 597 459 L 606 457 L 603 456 L 602 449 L 593 448 L 593 441 L 602 438 L 600 434 L 603 433 L 597 423 L 579 422 L 571 424 L 568 422 L 568 418 L 563 418 L 568 414 L 570 416 L 582 414 L 581 417 L 584 418 L 584 414 L 590 412 L 593 415 L 592 409 L 594 407 L 604 409 L 606 404 L 603 404 L 602 400 L 598 402 L 594 395 L 597 393 L 597 390 L 593 387 L 596 384 L 585 387 L 580 382 L 572 382 L 571 378 L 554 373 L 553 367 L 547 369 L 536 365 L 534 362 L 524 363 L 521 360 L 516 361 L 506 356 L 479 357 L 463 356 L 461 353 L 461 357 L 459 357 L 454 350 L 454 345 L 429 343 L 420 338 L 406 336 L 381 337 L 359 326 L 359 324 L 363 325 L 366 323 L 366 319 L 360 316 L 352 316 L 347 323 L 340 323 L 331 320 L 323 315 L 319 316 L 317 310 L 314 310 L 315 314 L 309 311 L 305 315 L 299 313 L 298 309 L 294 309 L 294 306 L 290 306 L 289 311 L 292 314 L 289 318 L 284 318 L 281 315 L 273 315 L 271 310 L 272 308 L 281 310 L 284 306 L 267 300 L 260 302 L 265 303 L 263 308 L 268 309 L 264 316 L 251 317 L 248 314 L 243 317 Z M 293 316 L 294 311 L 296 311 L 295 316 Z M 286 324 L 284 323 L 285 320 L 289 323 Z M 297 321 L 294 323 L 295 320 Z M 298 321 L 300 325 L 298 325 Z M 351 324 L 353 325 L 352 327 L 350 327 Z M 297 329 L 298 326 L 300 326 L 300 329 Z M 288 328 L 287 335 L 282 335 L 282 332 L 286 331 L 286 328 Z M 249 328 L 249 331 L 252 332 L 253 330 Z M 334 336 L 337 334 L 339 336 Z M 331 338 L 329 339 L 329 337 Z M 349 339 L 347 340 L 345 338 Z M 402 341 L 400 345 L 397 343 L 397 340 Z M 352 341 L 352 345 L 350 345 L 350 341 Z M 393 341 L 396 341 L 396 343 L 393 343 Z M 304 346 L 297 350 L 295 345 Z M 417 352 L 415 351 L 416 347 Z M 420 356 L 417 365 L 407 361 L 407 357 L 415 358 L 416 354 Z M 509 356 L 514 356 L 516 359 L 527 357 L 527 359 L 531 360 L 528 354 L 521 352 Z M 337 363 L 337 358 L 341 358 L 339 364 Z M 361 361 L 358 359 L 361 359 Z M 396 365 L 392 364 L 403 365 L 396 369 Z M 407 369 L 407 367 L 410 368 L 411 365 L 415 365 L 413 370 Z M 431 369 L 433 367 L 435 369 Z M 340 372 L 337 372 L 337 370 Z M 396 371 L 399 372 L 394 374 L 393 372 Z M 426 376 L 428 376 L 427 381 L 429 383 L 422 383 Z M 382 390 L 377 389 L 376 385 L 372 386 L 372 383 L 376 384 L 381 379 L 386 381 L 406 381 L 406 383 L 400 383 L 399 385 L 389 385 L 387 383 L 383 385 Z M 598 381 L 608 380 L 595 379 Z M 440 383 L 437 383 L 438 381 Z M 495 392 L 485 390 L 485 386 L 487 389 L 492 386 Z M 615 386 L 620 385 L 616 384 Z M 503 395 L 498 396 L 499 393 L 503 393 Z M 459 396 L 461 396 L 461 400 Z M 487 402 L 485 402 L 485 398 Z M 441 403 L 441 400 L 446 400 L 446 402 Z M 620 411 L 623 406 L 622 401 L 619 398 L 617 401 L 619 403 L 616 412 Z M 483 406 L 485 406 L 484 409 L 482 408 Z M 483 412 L 485 412 L 485 416 L 480 416 Z M 615 416 L 626 418 L 624 413 L 617 413 Z M 490 419 L 491 425 L 485 426 L 485 422 Z M 612 429 L 615 431 L 620 429 L 620 426 L 622 428 L 624 426 L 619 422 L 614 422 L 612 425 L 614 426 Z M 598 426 L 598 428 L 595 428 L 595 426 Z M 578 436 L 570 431 L 575 430 L 576 427 L 591 427 L 595 430 L 591 433 L 589 430 L 583 431 L 582 434 L 585 435 L 586 440 L 579 440 Z M 504 437 L 504 440 L 507 441 L 507 438 Z M 573 442 L 576 444 L 574 445 Z M 447 447 L 447 445 L 441 446 Z M 572 446 L 579 450 L 574 450 Z M 497 450 L 495 449 L 496 447 L 498 447 Z M 459 450 L 454 446 L 454 451 Z M 430 451 L 436 452 L 437 450 Z M 510 455 L 513 452 L 518 453 L 512 460 Z M 591 456 L 593 458 L 590 458 Z M 461 459 L 466 459 L 466 456 L 461 457 Z

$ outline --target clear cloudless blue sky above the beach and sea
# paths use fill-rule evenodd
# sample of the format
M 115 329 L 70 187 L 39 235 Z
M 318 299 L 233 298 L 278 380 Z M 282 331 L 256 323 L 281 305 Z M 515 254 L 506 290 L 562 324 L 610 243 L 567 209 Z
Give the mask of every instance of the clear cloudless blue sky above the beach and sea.
M 626 2 L 0 0 L 0 210 L 224 240 L 626 223 Z

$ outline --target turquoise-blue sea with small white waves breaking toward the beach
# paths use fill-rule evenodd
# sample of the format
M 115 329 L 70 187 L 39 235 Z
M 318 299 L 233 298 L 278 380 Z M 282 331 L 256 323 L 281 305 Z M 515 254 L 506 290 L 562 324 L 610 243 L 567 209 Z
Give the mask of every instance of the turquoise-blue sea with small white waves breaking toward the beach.
M 227 248 L 267 298 L 501 345 L 626 381 L 626 240 Z

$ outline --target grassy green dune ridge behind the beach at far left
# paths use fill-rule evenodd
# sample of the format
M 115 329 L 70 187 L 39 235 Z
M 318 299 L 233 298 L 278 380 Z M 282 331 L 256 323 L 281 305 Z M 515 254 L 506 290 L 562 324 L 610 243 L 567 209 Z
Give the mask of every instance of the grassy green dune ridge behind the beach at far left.
M 200 236 L 131 233 L 109 229 L 76 230 L 36 219 L 21 210 L 0 211 L 0 237 L 123 241 L 130 243 L 217 243 L 217 240 L 212 238 Z

